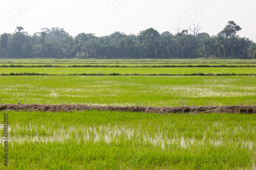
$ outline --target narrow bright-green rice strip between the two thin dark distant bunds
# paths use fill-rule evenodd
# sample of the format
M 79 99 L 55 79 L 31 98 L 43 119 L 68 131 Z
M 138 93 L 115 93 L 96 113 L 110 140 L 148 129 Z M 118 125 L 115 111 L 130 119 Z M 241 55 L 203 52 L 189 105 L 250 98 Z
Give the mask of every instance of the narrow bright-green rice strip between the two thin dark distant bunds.
M 102 67 L 84 67 L 84 68 L 31 68 L 31 67 L 1 67 L 0 74 L 11 74 L 11 73 L 37 73 L 37 74 L 51 74 L 51 75 L 68 75 L 68 74 L 256 74 L 256 67 L 185 67 L 185 68 L 102 68 Z

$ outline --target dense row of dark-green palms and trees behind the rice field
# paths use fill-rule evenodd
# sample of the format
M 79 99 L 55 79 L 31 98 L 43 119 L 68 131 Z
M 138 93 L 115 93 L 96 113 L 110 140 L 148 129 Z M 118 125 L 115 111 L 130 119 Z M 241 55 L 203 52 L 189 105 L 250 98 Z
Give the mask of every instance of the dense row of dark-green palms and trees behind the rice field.
M 33 35 L 17 27 L 0 37 L 0 58 L 119 59 L 119 58 L 256 58 L 256 44 L 237 35 L 242 28 L 234 21 L 217 35 L 199 33 L 199 25 L 175 35 L 153 28 L 138 35 L 115 32 L 109 36 L 78 34 L 60 28 L 41 29 Z

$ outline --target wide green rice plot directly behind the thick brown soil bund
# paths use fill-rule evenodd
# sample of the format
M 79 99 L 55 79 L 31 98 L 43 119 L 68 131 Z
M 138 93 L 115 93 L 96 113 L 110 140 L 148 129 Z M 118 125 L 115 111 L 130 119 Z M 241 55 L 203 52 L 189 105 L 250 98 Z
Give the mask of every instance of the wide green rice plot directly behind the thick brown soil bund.
M 256 104 L 256 78 L 251 76 L 0 76 L 0 82 L 2 104 Z

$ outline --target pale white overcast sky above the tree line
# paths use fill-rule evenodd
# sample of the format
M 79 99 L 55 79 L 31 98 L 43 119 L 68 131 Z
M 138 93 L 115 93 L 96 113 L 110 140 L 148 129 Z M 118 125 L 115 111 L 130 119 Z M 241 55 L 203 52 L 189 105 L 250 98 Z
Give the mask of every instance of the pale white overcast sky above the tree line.
M 216 35 L 233 20 L 243 28 L 240 36 L 256 41 L 255 7 L 254 0 L 1 0 L 0 34 L 13 33 L 17 26 L 31 35 L 52 27 L 72 36 L 137 35 L 148 28 L 175 34 L 175 24 L 182 30 L 199 21 L 200 32 Z

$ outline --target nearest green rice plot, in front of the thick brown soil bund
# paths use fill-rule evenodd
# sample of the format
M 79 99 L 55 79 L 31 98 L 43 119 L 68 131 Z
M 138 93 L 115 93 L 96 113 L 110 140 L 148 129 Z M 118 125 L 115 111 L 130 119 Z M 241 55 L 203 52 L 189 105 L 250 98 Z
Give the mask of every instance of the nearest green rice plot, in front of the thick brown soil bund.
M 8 169 L 252 169 L 256 162 L 255 114 L 5 113 Z

